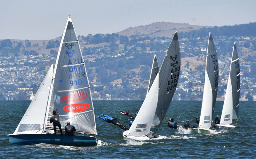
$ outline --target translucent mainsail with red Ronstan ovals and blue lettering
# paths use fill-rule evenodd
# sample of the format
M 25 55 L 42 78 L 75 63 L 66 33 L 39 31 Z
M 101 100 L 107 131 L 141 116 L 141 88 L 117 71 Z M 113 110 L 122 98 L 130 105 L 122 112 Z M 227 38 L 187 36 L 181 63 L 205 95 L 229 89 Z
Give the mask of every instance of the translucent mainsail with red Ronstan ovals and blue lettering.
M 97 135 L 90 85 L 76 32 L 68 17 L 55 63 L 46 110 L 46 127 L 52 111 L 58 109 L 60 123 L 67 121 L 76 131 Z

